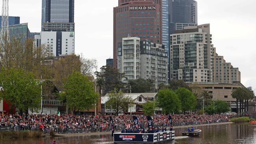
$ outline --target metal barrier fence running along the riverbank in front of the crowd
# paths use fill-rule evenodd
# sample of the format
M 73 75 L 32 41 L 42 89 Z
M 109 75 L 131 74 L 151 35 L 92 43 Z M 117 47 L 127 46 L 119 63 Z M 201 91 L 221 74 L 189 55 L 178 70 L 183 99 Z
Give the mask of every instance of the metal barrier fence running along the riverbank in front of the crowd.
M 211 123 L 221 123 L 221 122 L 228 122 L 228 120 L 212 120 L 212 121 L 202 121 L 202 122 L 180 122 L 180 123 L 174 123 L 173 126 L 189 126 L 189 125 L 199 125 L 199 124 L 211 124 Z M 148 128 L 147 124 L 140 124 L 140 127 L 143 127 L 145 129 Z M 131 125 L 133 127 L 133 125 Z M 154 127 L 169 127 L 169 124 L 154 124 Z M 123 128 L 126 128 L 125 125 L 115 125 L 114 130 L 119 131 Z M 5 131 L 42 131 L 44 134 L 49 134 L 50 131 L 54 131 L 55 133 L 94 133 L 94 132 L 106 132 L 111 131 L 110 126 L 102 127 L 102 126 L 94 126 L 94 127 L 65 127 L 65 128 L 39 128 L 34 126 L 0 126 L 0 132 Z

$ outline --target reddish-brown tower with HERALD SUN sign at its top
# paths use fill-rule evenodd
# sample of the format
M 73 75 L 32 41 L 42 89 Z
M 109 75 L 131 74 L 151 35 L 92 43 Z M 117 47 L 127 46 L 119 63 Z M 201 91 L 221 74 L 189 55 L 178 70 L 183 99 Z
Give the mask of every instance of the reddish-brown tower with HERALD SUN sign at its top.
M 122 47 L 122 38 L 128 34 L 162 42 L 161 0 L 119 0 L 113 8 L 113 66 L 117 64 L 117 50 Z

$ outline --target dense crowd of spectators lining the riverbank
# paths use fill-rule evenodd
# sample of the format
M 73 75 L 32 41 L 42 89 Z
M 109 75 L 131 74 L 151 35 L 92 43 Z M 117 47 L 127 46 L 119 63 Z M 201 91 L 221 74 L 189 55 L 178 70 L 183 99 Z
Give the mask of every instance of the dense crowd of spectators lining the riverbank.
M 147 127 L 147 118 L 145 115 L 135 115 L 138 118 L 141 127 Z M 228 122 L 231 115 L 222 114 L 172 114 L 173 126 L 187 126 L 196 124 L 209 124 L 216 122 Z M 49 129 L 63 129 L 63 128 L 82 128 L 91 129 L 100 127 L 102 130 L 110 127 L 110 115 L 73 115 L 63 114 L 58 116 L 45 114 L 7 114 L 0 117 L 0 126 L 9 127 L 30 127 L 33 128 L 49 128 Z M 132 116 L 119 115 L 112 116 L 114 127 L 116 129 L 134 127 Z M 153 124 L 157 127 L 169 126 L 168 116 L 155 114 L 152 116 Z

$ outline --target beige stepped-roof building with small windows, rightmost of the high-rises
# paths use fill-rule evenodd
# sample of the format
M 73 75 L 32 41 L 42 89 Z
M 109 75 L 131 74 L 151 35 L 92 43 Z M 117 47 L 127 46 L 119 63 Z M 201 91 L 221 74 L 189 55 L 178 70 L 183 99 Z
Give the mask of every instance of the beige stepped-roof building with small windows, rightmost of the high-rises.
M 241 81 L 241 72 L 238 68 L 234 68 L 231 63 L 227 63 L 223 56 L 216 53 L 216 48 L 213 48 L 213 81 L 217 83 L 233 83 Z

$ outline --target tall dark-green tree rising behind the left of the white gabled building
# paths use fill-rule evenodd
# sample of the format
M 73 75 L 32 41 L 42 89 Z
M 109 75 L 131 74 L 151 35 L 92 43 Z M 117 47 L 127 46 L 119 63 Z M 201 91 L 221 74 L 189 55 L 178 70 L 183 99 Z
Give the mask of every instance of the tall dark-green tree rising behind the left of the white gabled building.
M 124 88 L 124 83 L 122 82 L 125 78 L 124 74 L 120 73 L 116 68 L 112 66 L 102 66 L 100 70 L 101 72 L 95 72 L 95 74 L 97 78 L 104 78 L 104 94 L 115 89 L 119 90 Z

